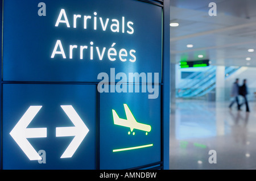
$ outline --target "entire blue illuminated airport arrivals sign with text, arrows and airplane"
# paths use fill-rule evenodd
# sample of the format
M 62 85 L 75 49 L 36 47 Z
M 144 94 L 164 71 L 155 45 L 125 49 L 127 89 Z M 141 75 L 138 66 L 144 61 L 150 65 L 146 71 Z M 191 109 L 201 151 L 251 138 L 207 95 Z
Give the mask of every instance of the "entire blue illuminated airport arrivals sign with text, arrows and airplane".
M 162 1 L 3 6 L 0 169 L 164 165 Z

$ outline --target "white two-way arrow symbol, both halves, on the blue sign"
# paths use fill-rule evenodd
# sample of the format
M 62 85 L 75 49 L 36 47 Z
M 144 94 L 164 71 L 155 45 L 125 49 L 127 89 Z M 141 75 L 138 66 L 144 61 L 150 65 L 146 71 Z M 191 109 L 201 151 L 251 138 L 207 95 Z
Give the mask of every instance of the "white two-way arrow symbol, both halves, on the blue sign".
M 30 142 L 28 142 L 27 138 L 47 137 L 47 128 L 27 128 L 41 108 L 42 106 L 30 106 L 10 132 L 11 137 L 13 137 L 14 141 L 16 141 L 30 160 L 41 160 L 42 158 L 36 152 Z M 72 106 L 61 106 L 61 108 L 63 108 L 64 112 L 67 114 L 75 127 L 56 128 L 56 137 L 75 137 L 60 158 L 71 158 L 81 144 L 82 140 L 84 140 L 86 134 L 89 132 L 89 129 L 86 127 Z

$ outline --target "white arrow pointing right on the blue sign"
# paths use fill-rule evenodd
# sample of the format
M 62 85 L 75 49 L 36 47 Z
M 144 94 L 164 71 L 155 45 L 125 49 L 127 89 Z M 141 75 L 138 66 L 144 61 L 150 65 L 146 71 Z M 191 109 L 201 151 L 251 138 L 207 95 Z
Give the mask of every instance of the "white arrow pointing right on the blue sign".
M 56 137 L 63 136 L 75 136 L 71 143 L 68 145 L 68 148 L 64 151 L 60 158 L 71 158 L 75 153 L 82 140 L 84 140 L 86 134 L 89 132 L 89 129 L 86 127 L 82 119 L 79 117 L 75 109 L 71 106 L 60 106 L 64 112 L 67 114 L 69 119 L 75 125 L 75 127 L 57 127 L 56 128 Z

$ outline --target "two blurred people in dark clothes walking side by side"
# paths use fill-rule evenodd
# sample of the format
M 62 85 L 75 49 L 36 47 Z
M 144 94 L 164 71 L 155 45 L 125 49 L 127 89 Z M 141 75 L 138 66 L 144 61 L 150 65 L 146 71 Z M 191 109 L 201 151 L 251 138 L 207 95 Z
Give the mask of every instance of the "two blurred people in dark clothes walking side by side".
M 231 96 L 234 99 L 229 104 L 229 108 L 231 109 L 233 104 L 235 102 L 237 102 L 237 110 L 241 110 L 241 106 L 243 104 L 245 104 L 246 112 L 250 112 L 249 104 L 248 104 L 248 101 L 247 101 L 247 98 L 246 98 L 246 95 L 248 94 L 246 79 L 243 79 L 243 85 L 242 86 L 239 86 L 238 83 L 239 83 L 239 79 L 237 78 L 236 82 L 234 82 L 233 85 L 232 85 Z M 242 104 L 239 103 L 239 98 L 238 98 L 239 95 L 241 95 L 243 97 L 243 103 Z

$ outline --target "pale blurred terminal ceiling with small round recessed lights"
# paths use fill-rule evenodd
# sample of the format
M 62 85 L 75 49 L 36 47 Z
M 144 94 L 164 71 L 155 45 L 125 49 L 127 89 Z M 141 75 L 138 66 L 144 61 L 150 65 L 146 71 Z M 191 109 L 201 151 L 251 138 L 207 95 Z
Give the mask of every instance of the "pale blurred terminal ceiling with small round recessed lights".
M 209 16 L 210 2 L 217 16 Z M 179 23 L 170 27 L 172 63 L 209 59 L 212 65 L 256 66 L 256 0 L 171 0 L 170 10 L 171 22 Z

